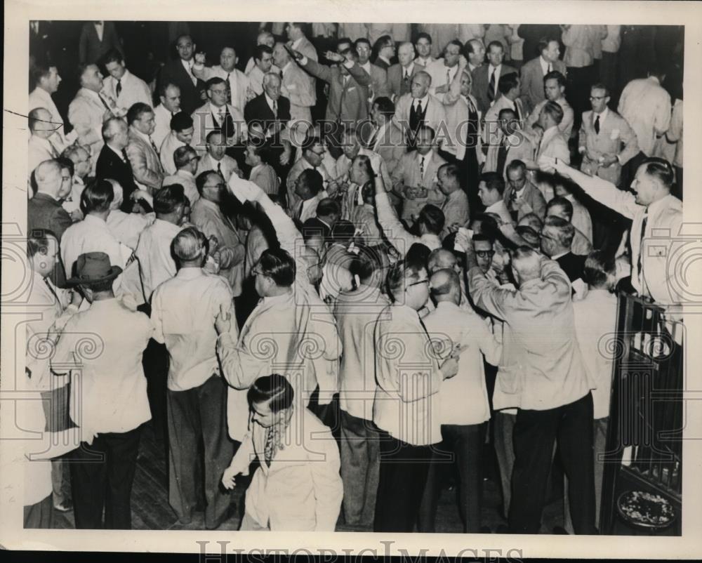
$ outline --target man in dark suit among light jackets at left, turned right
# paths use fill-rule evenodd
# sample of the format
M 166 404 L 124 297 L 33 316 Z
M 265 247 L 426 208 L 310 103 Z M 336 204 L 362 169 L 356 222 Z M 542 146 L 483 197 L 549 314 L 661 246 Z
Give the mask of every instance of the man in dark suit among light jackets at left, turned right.
M 102 124 L 102 138 L 105 140 L 105 145 L 100 150 L 98 164 L 95 166 L 95 179 L 117 180 L 124 192 L 120 209 L 129 213 L 132 209 L 131 194 L 139 188 L 134 182 L 134 175 L 125 150 L 129 144 L 129 135 L 124 119 L 118 117 L 107 119 Z

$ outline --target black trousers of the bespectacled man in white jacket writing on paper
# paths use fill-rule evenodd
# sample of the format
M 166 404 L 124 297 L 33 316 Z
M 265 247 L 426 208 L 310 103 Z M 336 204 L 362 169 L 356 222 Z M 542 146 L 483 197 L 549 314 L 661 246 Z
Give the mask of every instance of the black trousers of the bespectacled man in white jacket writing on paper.
M 380 431 L 380 475 L 373 531 L 414 530 L 419 514 L 432 446 L 412 446 Z

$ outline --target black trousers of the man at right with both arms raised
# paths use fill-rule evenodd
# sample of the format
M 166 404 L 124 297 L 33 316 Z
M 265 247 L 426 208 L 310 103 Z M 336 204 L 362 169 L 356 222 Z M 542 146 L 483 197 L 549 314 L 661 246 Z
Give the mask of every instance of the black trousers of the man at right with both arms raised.
M 588 392 L 582 399 L 555 409 L 518 411 L 509 517 L 512 534 L 538 534 L 541 528 L 555 439 L 570 484 L 575 533 L 595 533 L 592 395 Z

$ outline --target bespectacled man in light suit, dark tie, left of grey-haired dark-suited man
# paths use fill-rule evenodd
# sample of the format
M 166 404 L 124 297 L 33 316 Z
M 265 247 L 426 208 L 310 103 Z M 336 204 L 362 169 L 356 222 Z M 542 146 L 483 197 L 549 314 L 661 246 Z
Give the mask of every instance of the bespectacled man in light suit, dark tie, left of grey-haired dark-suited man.
M 200 156 L 207 152 L 206 138 L 211 131 L 222 131 L 228 147 L 246 139 L 244 114 L 227 103 L 229 88 L 225 79 L 211 78 L 207 81 L 206 88 L 209 101 L 192 113 L 192 146 Z

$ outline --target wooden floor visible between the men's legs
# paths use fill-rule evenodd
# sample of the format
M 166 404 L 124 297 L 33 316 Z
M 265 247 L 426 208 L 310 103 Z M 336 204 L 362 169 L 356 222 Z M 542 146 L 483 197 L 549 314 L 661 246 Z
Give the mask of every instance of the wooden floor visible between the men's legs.
M 486 449 L 489 451 L 490 446 Z M 132 489 L 132 527 L 136 530 L 201 530 L 204 529 L 204 515 L 195 512 L 192 522 L 180 524 L 175 512 L 168 505 L 168 463 L 166 443 L 154 431 L 152 422 L 145 425 L 137 459 L 137 468 Z M 483 489 L 482 523 L 496 531 L 500 524 L 505 524 L 501 517 L 501 493 L 499 479 L 494 464 L 485 468 Z M 244 508 L 244 490 L 234 489 L 232 495 L 231 516 L 220 526 L 220 530 L 237 530 L 240 515 Z M 372 531 L 358 526 L 346 526 L 340 517 L 337 531 Z M 544 510 L 542 533 L 550 534 L 554 526 L 562 525 L 562 501 L 555 500 Z M 53 527 L 73 529 L 73 512 L 54 510 Z M 456 491 L 448 486 L 439 498 L 437 513 L 437 532 L 461 533 L 463 527 L 456 505 Z

